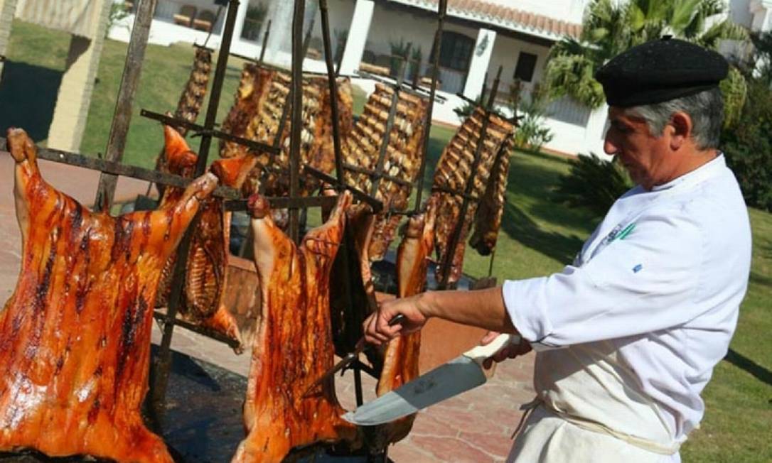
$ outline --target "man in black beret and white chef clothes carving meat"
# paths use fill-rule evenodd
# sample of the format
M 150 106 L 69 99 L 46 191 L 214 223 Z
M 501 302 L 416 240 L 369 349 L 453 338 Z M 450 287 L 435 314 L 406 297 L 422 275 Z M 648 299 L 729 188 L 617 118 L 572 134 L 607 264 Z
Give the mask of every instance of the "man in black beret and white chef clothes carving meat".
M 519 333 L 537 350 L 537 399 L 510 461 L 680 461 L 750 272 L 747 209 L 717 150 L 726 73 L 716 52 L 675 39 L 611 59 L 596 76 L 609 104 L 604 150 L 638 186 L 574 265 L 385 302 L 365 322 L 367 340 L 384 343 L 432 316 Z M 408 321 L 389 327 L 397 313 Z M 526 350 L 510 346 L 495 360 Z

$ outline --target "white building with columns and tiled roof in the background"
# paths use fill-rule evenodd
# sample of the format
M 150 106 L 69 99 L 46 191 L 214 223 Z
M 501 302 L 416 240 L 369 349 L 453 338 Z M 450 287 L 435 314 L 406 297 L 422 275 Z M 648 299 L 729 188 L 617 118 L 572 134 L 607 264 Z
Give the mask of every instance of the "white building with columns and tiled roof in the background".
M 435 106 L 435 118 L 459 123 L 452 110 L 462 105 L 455 93 L 479 96 L 486 83 L 490 89 L 496 70 L 503 66 L 499 101 L 505 101 L 510 86 L 519 79 L 523 90 L 540 82 L 550 47 L 564 35 L 578 37 L 581 19 L 590 0 L 449 0 L 445 33 L 439 57 L 440 90 L 448 101 Z M 273 18 L 266 61 L 289 65 L 290 0 L 242 0 L 236 19 L 232 52 L 259 56 L 268 17 Z M 753 30 L 772 29 L 772 0 L 730 0 L 732 19 Z M 408 76 L 428 76 L 433 55 L 438 0 L 328 0 L 330 29 L 342 75 L 359 69 L 394 74 L 394 54 L 409 43 Z M 212 0 L 158 0 L 150 41 L 203 43 L 212 25 L 209 46 L 218 46 L 225 11 L 217 15 Z M 317 2 L 306 2 L 306 25 L 317 15 Z M 261 14 L 262 13 L 262 14 Z M 127 18 L 126 24 L 133 22 Z M 113 28 L 116 39 L 127 39 L 125 27 Z M 314 25 L 306 69 L 326 69 L 321 59 L 321 28 Z M 413 55 L 415 53 L 415 55 Z M 487 82 L 485 82 L 487 76 Z M 365 90 L 371 83 L 355 81 Z M 555 137 L 545 147 L 562 153 L 602 153 L 606 108 L 591 111 L 564 99 L 550 106 L 546 123 Z

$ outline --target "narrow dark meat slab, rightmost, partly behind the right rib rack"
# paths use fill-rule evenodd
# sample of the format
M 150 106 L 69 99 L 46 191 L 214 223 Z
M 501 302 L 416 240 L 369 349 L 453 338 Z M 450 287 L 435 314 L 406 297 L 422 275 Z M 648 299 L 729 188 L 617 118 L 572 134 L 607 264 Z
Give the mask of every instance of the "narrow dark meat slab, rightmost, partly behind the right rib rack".
M 501 218 L 504 213 L 506 201 L 506 181 L 510 174 L 510 150 L 514 139 L 507 140 L 496 154 L 493 161 L 490 177 L 482 194 L 475 214 L 475 229 L 469 238 L 469 245 L 475 248 L 480 255 L 489 255 L 496 248 L 499 238 Z

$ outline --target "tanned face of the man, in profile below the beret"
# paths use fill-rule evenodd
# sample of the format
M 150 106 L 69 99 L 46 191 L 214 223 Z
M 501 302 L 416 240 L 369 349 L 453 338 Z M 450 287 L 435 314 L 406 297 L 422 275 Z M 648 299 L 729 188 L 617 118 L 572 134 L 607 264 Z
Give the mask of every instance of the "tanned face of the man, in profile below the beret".
M 668 137 L 652 134 L 645 120 L 625 115 L 615 106 L 608 109 L 608 119 L 611 127 L 603 144 L 606 154 L 618 157 L 632 180 L 646 190 L 664 183 L 662 177 L 669 164 Z

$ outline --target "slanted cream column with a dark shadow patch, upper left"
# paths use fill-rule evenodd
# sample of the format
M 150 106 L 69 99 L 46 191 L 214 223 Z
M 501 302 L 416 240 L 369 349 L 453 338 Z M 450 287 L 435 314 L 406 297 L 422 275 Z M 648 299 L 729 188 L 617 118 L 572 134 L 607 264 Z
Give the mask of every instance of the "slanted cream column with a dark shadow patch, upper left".
M 109 13 L 110 2 L 104 2 L 102 8 L 92 8 L 90 39 L 72 35 L 66 69 L 49 127 L 49 147 L 66 151 L 80 150 Z

